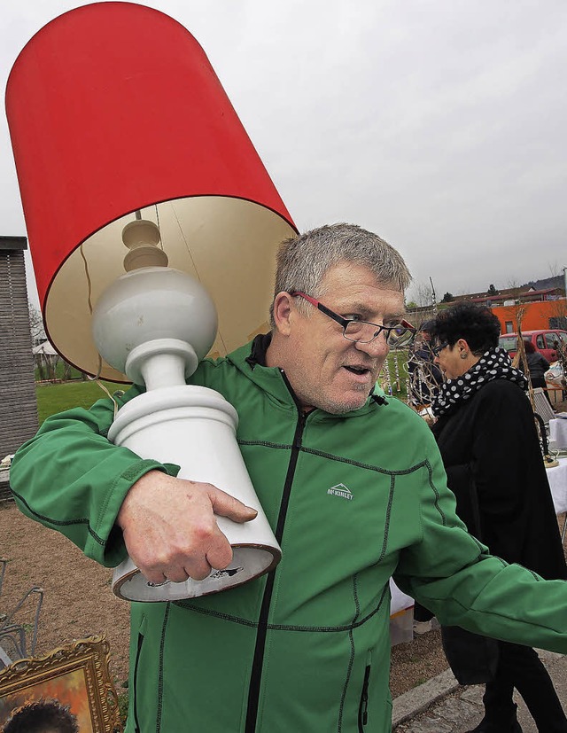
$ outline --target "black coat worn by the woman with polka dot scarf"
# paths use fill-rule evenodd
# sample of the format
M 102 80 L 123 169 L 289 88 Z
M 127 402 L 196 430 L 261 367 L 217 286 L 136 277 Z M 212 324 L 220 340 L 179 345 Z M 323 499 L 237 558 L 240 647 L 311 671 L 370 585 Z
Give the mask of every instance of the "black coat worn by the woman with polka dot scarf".
M 482 386 L 433 425 L 457 514 L 493 555 L 544 578 L 567 567 L 532 406 L 505 379 Z M 478 513 L 471 501 L 477 492 Z

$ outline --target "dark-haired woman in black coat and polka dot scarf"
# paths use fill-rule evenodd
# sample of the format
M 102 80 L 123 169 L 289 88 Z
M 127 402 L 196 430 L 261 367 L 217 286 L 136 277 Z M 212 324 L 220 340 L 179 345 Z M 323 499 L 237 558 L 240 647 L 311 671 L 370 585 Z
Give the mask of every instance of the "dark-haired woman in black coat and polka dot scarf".
M 438 417 L 433 433 L 457 513 L 493 555 L 544 578 L 566 579 L 525 378 L 498 347 L 498 319 L 489 308 L 457 303 L 439 314 L 433 334 L 435 363 L 447 378 L 433 402 Z M 566 733 L 567 718 L 536 652 L 497 644 L 496 671 L 485 688 L 485 717 L 475 733 L 521 733 L 514 688 L 540 731 Z

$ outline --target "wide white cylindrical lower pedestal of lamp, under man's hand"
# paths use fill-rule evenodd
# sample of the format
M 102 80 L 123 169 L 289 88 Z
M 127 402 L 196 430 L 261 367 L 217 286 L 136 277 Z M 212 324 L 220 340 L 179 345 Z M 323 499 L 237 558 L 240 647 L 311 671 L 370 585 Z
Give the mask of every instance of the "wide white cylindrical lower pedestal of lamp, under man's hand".
M 282 551 L 261 508 L 236 441 L 237 411 L 201 386 L 171 386 L 140 394 L 119 410 L 108 438 L 142 458 L 177 464 L 180 479 L 213 484 L 258 511 L 251 522 L 217 517 L 234 557 L 205 580 L 147 581 L 131 559 L 114 571 L 113 592 L 129 601 L 163 602 L 206 596 L 268 573 Z

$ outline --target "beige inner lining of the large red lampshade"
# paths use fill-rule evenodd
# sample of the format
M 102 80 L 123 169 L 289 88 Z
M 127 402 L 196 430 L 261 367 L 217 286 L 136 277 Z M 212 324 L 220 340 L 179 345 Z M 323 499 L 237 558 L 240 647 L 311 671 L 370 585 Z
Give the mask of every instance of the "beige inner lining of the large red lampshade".
M 169 267 L 197 277 L 213 297 L 219 331 L 212 355 L 227 354 L 267 327 L 276 249 L 295 236 L 288 222 L 251 201 L 216 196 L 166 201 L 141 214 L 158 224 Z M 128 379 L 100 360 L 90 322 L 100 294 L 124 274 L 128 249 L 121 232 L 135 218 L 123 216 L 77 247 L 58 270 L 44 308 L 50 341 L 66 361 L 123 382 Z

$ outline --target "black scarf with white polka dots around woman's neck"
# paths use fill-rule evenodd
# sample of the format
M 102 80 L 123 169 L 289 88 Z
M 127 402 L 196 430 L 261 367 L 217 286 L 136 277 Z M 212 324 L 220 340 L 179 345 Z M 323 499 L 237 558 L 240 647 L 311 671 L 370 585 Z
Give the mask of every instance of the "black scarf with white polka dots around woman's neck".
M 522 389 L 527 389 L 524 374 L 514 369 L 509 353 L 501 347 L 491 348 L 461 377 L 447 379 L 431 405 L 433 415 L 439 417 L 452 412 L 493 379 L 508 379 L 509 382 L 516 382 Z

